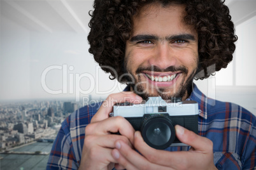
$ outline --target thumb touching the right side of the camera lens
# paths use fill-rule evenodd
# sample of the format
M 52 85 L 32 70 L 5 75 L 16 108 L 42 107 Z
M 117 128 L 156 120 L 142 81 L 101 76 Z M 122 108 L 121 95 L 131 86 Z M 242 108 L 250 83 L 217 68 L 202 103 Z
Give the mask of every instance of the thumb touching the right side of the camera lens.
M 182 142 L 191 147 L 192 150 L 197 152 L 208 153 L 213 150 L 213 142 L 208 138 L 199 136 L 198 134 L 183 128 L 182 126 L 176 125 L 176 136 Z

